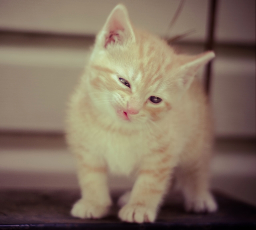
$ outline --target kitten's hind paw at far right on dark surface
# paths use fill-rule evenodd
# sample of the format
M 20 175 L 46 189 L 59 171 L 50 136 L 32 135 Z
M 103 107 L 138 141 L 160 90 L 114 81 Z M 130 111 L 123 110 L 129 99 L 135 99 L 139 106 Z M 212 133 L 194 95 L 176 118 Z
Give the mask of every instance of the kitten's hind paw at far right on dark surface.
M 213 196 L 208 193 L 204 196 L 187 200 L 185 202 L 185 208 L 187 212 L 216 212 L 218 206 Z

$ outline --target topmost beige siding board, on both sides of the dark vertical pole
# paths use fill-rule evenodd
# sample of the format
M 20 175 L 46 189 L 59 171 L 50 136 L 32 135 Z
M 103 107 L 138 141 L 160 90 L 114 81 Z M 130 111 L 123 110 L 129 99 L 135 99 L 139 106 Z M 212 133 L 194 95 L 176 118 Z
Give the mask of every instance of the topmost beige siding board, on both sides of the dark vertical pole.
M 132 22 L 165 35 L 179 0 L 0 0 L 0 30 L 95 35 L 118 3 Z M 187 0 L 172 34 L 194 29 L 187 40 L 204 41 L 209 0 Z M 255 0 L 219 0 L 218 42 L 255 42 Z

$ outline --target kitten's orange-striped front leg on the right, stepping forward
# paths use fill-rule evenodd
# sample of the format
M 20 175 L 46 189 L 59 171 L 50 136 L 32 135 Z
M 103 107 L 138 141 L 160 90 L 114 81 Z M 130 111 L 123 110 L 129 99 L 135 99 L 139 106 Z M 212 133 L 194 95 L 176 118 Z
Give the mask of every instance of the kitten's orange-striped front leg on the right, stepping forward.
M 152 154 L 143 161 L 129 202 L 118 216 L 126 222 L 154 222 L 158 206 L 168 188 L 172 173 L 170 155 Z

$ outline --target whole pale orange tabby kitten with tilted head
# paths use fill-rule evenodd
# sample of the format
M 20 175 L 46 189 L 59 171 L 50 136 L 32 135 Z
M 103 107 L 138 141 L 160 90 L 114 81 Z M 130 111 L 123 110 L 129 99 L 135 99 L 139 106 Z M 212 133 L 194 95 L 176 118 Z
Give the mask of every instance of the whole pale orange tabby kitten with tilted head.
M 67 140 L 82 194 L 72 216 L 108 213 L 108 172 L 137 175 L 119 200 L 123 221 L 154 222 L 172 178 L 187 211 L 216 211 L 208 185 L 210 110 L 195 77 L 212 58 L 213 52 L 176 54 L 164 40 L 134 28 L 125 6 L 112 10 L 68 110 Z

